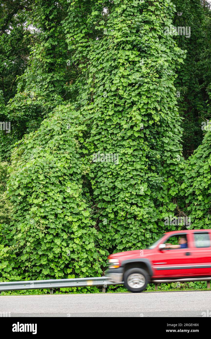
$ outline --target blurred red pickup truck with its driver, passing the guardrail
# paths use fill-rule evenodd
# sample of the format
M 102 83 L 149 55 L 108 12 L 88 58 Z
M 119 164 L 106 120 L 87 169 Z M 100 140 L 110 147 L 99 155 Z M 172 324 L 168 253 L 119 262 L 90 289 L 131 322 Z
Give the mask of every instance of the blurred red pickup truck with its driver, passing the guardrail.
M 211 230 L 165 233 L 145 250 L 108 256 L 106 276 L 131 292 L 148 283 L 211 280 Z

